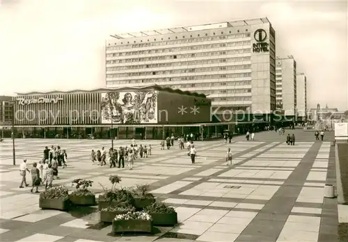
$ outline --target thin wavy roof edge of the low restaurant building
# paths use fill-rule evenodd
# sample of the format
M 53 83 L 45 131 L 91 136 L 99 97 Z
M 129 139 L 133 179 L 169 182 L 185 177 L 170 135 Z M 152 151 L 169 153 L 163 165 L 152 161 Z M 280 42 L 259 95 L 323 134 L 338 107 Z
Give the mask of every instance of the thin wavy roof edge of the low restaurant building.
M 176 94 L 197 96 L 200 98 L 207 98 L 207 96 L 205 96 L 205 94 L 198 94 L 197 92 L 182 91 L 180 89 L 172 89 L 170 87 L 161 87 L 157 84 L 146 85 L 146 86 L 141 86 L 141 87 L 127 87 L 127 86 L 125 86 L 125 87 L 116 87 L 116 88 L 97 88 L 97 89 L 92 89 L 92 90 L 74 89 L 71 91 L 53 90 L 50 92 L 26 92 L 26 93 L 17 92 L 17 96 L 29 96 L 29 95 L 40 95 L 40 94 L 74 94 L 74 93 L 81 93 L 81 92 L 111 92 L 111 91 L 122 92 L 123 90 L 129 90 L 129 89 L 134 89 L 134 91 L 141 91 L 144 89 L 155 89 L 157 91 L 162 91 L 162 92 L 171 92 L 171 93 L 176 93 Z

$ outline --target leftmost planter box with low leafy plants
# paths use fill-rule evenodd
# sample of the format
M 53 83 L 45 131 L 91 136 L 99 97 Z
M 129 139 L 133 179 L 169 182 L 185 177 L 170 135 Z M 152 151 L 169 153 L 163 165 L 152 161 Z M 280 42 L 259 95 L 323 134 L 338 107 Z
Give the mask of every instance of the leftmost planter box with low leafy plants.
M 41 209 L 69 209 L 69 190 L 63 186 L 52 187 L 40 193 L 39 207 Z

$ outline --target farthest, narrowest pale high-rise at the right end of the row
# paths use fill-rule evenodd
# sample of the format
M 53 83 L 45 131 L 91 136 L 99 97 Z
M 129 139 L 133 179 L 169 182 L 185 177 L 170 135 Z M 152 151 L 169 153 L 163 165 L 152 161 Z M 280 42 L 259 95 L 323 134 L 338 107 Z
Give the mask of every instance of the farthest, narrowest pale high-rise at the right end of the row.
M 303 73 L 298 73 L 296 76 L 296 104 L 297 118 L 299 121 L 307 120 L 307 78 Z

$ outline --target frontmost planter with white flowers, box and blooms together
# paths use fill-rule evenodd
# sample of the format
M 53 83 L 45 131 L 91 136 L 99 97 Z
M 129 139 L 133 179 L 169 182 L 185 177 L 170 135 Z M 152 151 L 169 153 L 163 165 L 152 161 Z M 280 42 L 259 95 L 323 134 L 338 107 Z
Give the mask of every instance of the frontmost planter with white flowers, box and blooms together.
M 144 211 L 129 211 L 127 214 L 117 215 L 112 222 L 113 233 L 123 232 L 152 232 L 151 216 Z

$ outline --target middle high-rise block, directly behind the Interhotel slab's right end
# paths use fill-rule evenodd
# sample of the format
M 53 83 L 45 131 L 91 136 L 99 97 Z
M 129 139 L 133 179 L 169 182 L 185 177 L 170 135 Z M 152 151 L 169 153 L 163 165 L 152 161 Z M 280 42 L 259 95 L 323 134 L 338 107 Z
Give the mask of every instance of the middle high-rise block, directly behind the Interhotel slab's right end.
M 276 57 L 277 110 L 289 118 L 296 116 L 296 61 L 292 55 Z

